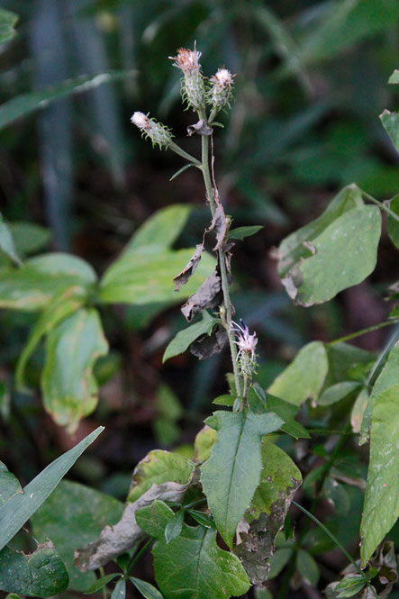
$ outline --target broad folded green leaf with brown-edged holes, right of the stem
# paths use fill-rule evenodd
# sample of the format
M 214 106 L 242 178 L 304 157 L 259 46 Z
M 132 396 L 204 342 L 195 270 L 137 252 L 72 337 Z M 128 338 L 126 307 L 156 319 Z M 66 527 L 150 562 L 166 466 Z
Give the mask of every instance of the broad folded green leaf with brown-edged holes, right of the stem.
M 357 285 L 376 266 L 381 214 L 358 186 L 340 191 L 324 213 L 289 235 L 277 250 L 278 272 L 296 304 L 322 304 Z

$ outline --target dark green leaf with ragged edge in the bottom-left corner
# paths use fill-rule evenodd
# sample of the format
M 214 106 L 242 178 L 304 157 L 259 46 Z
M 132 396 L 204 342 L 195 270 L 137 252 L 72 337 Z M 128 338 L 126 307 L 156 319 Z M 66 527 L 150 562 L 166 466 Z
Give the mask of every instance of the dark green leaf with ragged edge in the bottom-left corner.
M 0 590 L 50 597 L 68 587 L 67 570 L 50 541 L 29 555 L 5 547 L 0 551 Z

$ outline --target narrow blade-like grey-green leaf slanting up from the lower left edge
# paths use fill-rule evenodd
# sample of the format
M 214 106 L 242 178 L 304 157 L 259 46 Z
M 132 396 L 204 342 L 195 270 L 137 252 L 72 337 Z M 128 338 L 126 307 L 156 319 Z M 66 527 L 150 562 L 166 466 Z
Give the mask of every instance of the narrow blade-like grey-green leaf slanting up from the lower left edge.
M 0 507 L 0 549 L 13 539 L 32 514 L 35 513 L 47 499 L 59 481 L 65 476 L 77 458 L 93 443 L 104 427 L 99 426 L 86 436 L 74 448 L 69 449 L 59 458 L 51 462 L 41 473 L 33 478 L 23 489 L 23 494 L 14 495 L 6 504 Z

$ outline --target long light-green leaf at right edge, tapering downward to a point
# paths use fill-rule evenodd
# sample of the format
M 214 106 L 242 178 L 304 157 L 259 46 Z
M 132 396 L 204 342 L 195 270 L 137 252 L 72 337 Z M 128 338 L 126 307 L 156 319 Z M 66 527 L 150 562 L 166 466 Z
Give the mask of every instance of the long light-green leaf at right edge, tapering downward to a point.
M 398 380 L 396 376 L 396 381 Z M 376 396 L 370 434 L 370 461 L 363 517 L 360 556 L 366 564 L 377 545 L 399 517 L 399 385 Z

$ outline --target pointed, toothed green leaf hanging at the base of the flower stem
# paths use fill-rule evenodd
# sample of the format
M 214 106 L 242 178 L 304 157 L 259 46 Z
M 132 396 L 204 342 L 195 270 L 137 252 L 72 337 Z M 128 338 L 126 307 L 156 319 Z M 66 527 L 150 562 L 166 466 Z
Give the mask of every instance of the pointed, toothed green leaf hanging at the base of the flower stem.
M 260 441 L 284 423 L 274 413 L 215 412 L 205 421 L 217 431 L 201 483 L 214 522 L 229 547 L 260 480 Z

